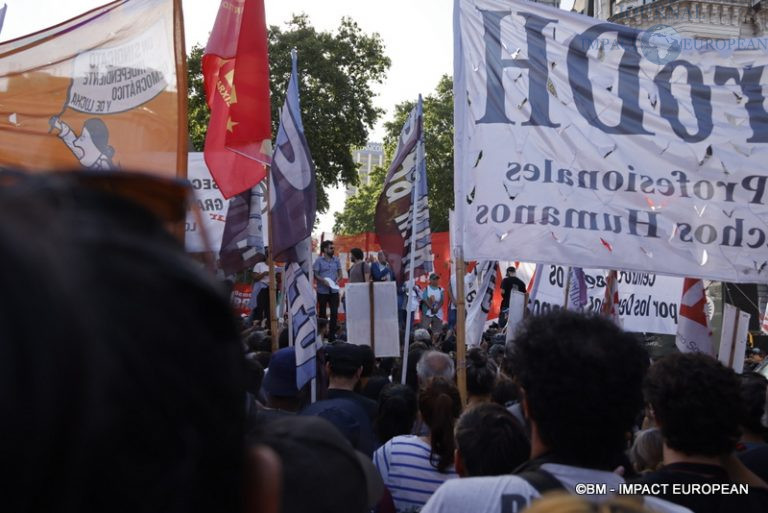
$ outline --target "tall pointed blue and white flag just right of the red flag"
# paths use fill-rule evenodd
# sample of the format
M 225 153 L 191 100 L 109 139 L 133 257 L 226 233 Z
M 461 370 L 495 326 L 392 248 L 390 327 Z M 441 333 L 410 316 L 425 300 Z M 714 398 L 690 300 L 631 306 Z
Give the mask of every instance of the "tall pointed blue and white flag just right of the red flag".
M 312 235 L 317 212 L 315 165 L 309 154 L 299 106 L 296 50 L 291 51 L 292 71 L 280 113 L 270 180 L 272 254 L 276 260 L 297 262 L 296 245 Z M 311 263 L 310 263 L 311 265 Z M 307 268 L 304 269 L 307 271 Z

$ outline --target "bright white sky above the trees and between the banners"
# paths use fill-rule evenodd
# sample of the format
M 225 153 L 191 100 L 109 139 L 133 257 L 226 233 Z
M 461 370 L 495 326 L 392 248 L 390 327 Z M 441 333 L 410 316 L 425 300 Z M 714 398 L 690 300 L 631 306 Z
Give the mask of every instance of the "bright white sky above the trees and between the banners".
M 13 39 L 50 27 L 108 3 L 107 0 L 0 0 L 8 4 L 0 40 Z M 569 0 L 566 3 L 570 4 Z M 187 49 L 205 44 L 220 0 L 183 0 Z M 386 82 L 377 87 L 376 105 L 386 113 L 370 136 L 381 141 L 382 122 L 394 106 L 432 92 L 444 73 L 452 74 L 453 0 L 265 0 L 267 23 L 281 25 L 293 13 L 304 12 L 319 30 L 333 30 L 343 16 L 367 33 L 378 32 L 392 60 Z M 301 56 L 299 56 L 301 58 Z M 331 212 L 320 229 L 330 231 L 334 210 L 344 206 L 344 194 L 331 191 Z

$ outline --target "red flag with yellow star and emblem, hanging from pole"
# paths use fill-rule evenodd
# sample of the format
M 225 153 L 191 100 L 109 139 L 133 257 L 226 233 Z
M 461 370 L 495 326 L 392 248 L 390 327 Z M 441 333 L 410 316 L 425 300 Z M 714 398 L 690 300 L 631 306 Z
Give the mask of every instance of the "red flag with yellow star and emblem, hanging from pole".
M 272 153 L 263 0 L 221 2 L 202 64 L 211 109 L 205 163 L 230 198 L 266 176 Z

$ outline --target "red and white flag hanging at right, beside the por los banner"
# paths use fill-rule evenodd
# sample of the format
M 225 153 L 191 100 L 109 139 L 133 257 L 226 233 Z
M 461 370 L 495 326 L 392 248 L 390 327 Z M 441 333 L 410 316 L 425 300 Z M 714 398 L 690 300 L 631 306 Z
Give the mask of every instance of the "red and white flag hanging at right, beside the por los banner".
M 675 338 L 675 345 L 680 352 L 715 356 L 712 331 L 707 325 L 706 304 L 704 283 L 700 279 L 686 278 L 683 281 L 683 296 L 680 300 L 680 317 Z

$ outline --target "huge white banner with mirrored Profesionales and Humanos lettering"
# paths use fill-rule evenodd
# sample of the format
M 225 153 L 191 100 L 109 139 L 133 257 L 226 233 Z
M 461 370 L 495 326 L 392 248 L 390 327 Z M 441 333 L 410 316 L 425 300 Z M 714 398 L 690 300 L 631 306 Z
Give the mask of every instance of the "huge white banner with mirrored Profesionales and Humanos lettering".
M 768 282 L 766 40 L 455 0 L 468 260 Z

